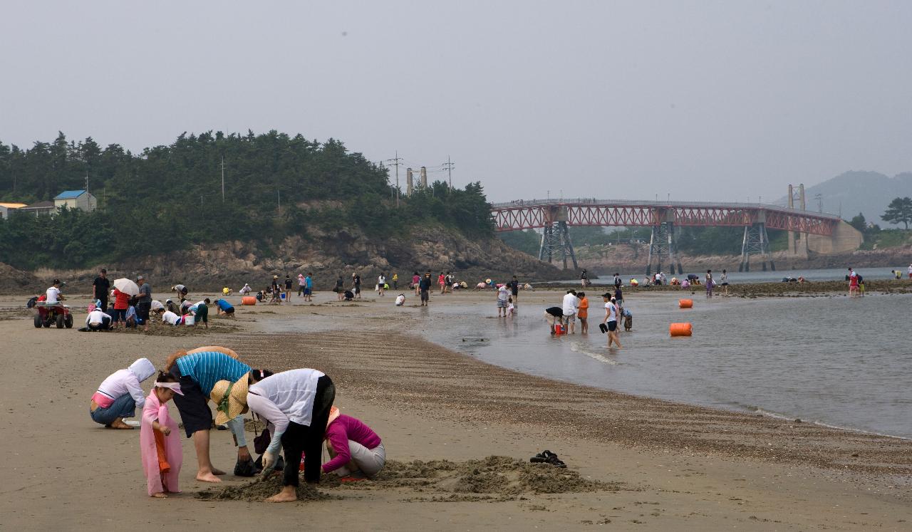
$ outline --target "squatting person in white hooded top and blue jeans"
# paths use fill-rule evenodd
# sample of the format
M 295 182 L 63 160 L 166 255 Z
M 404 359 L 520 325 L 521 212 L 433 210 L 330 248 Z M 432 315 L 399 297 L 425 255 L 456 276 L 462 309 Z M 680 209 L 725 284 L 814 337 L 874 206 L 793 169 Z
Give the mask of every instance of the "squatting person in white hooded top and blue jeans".
M 155 374 L 155 365 L 148 358 L 140 358 L 125 370 L 111 373 L 92 395 L 88 414 L 92 421 L 107 428 L 132 429 L 123 422 L 133 417 L 137 406 L 146 404 L 146 394 L 140 383 Z

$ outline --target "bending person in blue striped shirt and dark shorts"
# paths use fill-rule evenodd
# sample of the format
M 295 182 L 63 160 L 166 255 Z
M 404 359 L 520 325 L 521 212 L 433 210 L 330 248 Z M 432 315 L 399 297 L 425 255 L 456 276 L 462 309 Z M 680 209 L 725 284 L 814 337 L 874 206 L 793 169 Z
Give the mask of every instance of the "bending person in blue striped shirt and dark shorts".
M 233 352 L 229 352 L 233 353 Z M 181 384 L 183 395 L 174 398 L 177 411 L 181 414 L 181 422 L 187 437 L 193 438 L 196 448 L 196 479 L 202 482 L 222 482 L 218 477 L 224 475 L 223 471 L 212 466 L 209 454 L 209 433 L 212 429 L 212 411 L 207 404 L 212 395 L 212 388 L 218 381 L 235 382 L 246 377 L 250 366 L 238 361 L 236 354 L 222 353 L 220 351 L 203 351 L 187 353 L 176 351 L 168 356 L 165 361 L 165 373 L 171 373 Z M 222 405 L 214 402 L 221 412 Z M 253 476 L 254 460 L 247 449 L 247 439 L 244 435 L 244 417 L 241 415 L 225 419 L 218 425 L 228 425 L 234 435 L 237 445 L 237 464 L 234 474 L 240 476 Z

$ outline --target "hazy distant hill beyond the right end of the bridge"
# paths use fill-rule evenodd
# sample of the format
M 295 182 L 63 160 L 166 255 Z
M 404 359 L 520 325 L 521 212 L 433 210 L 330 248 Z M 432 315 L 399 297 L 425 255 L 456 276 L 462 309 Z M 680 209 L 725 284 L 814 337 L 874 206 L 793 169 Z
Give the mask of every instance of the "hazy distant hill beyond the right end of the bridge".
M 882 228 L 896 228 L 880 219 L 886 206 L 896 197 L 912 197 L 912 172 L 903 172 L 890 178 L 879 172 L 849 171 L 833 179 L 827 179 L 819 185 L 804 189 L 804 202 L 807 210 L 817 210 L 815 195 L 820 194 L 824 212 L 842 213 L 845 220 L 859 212 L 865 220 L 876 223 Z M 784 196 L 776 201 L 787 205 Z

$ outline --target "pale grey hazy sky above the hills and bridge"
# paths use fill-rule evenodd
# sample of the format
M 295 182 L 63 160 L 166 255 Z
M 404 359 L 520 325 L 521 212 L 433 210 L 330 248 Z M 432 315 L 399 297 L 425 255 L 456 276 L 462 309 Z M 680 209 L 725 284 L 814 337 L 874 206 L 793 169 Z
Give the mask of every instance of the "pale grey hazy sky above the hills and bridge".
M 0 140 L 277 129 L 449 155 L 493 201 L 773 200 L 912 170 L 910 28 L 909 1 L 5 3 Z

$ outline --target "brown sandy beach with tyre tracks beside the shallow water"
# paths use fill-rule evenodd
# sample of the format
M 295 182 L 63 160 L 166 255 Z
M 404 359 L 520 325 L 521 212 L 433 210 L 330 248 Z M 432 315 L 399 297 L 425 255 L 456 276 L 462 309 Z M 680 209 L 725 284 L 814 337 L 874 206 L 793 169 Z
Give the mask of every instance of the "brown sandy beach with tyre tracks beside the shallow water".
M 523 293 L 521 308 L 540 312 L 560 293 Z M 26 299 L 0 299 L 10 363 L 0 377 L 4 528 L 912 528 L 907 440 L 561 383 L 412 333 L 435 305 L 488 302 L 490 292 L 432 296 L 426 314 L 394 310 L 390 296 L 345 303 L 319 292 L 313 305 L 237 307 L 236 320 L 211 316 L 208 332 L 181 334 L 161 325 L 146 334 L 37 330 L 20 310 Z M 88 303 L 71 301 L 74 309 Z M 322 330 L 300 326 L 311 318 Z M 76 326 L 84 319 L 78 312 Z M 329 374 L 342 412 L 383 438 L 385 474 L 354 485 L 326 478 L 312 499 L 266 505 L 250 500 L 263 486 L 249 479 L 196 481 L 192 442 L 183 439 L 183 493 L 147 496 L 139 431 L 94 424 L 89 397 L 140 356 L 161 366 L 176 349 L 212 344 L 254 366 Z M 171 413 L 178 416 L 173 405 Z M 567 470 L 528 465 L 544 449 Z M 233 468 L 230 433 L 213 431 L 212 456 Z

